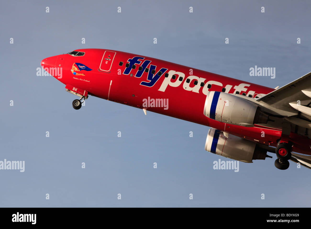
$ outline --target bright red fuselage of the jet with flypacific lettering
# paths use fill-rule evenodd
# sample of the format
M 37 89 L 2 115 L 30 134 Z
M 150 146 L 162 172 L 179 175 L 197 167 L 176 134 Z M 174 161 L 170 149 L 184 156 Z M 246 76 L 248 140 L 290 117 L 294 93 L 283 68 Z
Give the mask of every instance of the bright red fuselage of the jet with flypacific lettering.
M 99 98 L 210 126 L 265 145 L 276 146 L 281 137 L 280 129 L 225 124 L 203 114 L 209 91 L 258 98 L 272 92 L 273 88 L 126 52 L 104 49 L 75 51 L 81 55 L 57 55 L 41 62 L 50 74 L 50 68 L 62 68 L 61 75 L 51 75 L 66 88 L 71 85 Z M 166 101 L 166 107 L 159 105 L 163 105 L 159 99 Z M 262 131 L 265 137 L 261 137 Z M 293 151 L 311 155 L 309 138 L 295 133 L 290 137 L 294 143 Z

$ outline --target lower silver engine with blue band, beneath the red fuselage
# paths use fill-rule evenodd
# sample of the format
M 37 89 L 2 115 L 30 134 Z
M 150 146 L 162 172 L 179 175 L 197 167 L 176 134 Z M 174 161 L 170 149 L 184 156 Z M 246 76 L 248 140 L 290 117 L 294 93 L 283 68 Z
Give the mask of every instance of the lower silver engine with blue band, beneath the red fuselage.
M 260 148 L 255 142 L 229 135 L 225 137 L 219 130 L 208 131 L 205 150 L 217 155 L 238 161 L 252 163 L 252 160 L 265 160 L 267 150 Z

